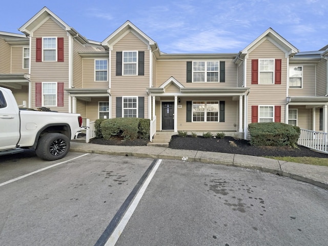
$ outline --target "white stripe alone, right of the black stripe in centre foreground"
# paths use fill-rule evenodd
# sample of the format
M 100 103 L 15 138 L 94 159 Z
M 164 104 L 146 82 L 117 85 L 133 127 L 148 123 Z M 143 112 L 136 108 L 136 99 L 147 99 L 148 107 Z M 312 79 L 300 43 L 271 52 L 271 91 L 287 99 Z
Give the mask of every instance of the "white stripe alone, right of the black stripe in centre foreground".
M 112 233 L 112 235 L 110 236 L 110 238 L 106 242 L 105 246 L 113 246 L 117 242 L 119 236 L 121 235 L 121 233 L 123 232 L 123 230 L 126 227 L 127 223 L 129 222 L 129 219 L 131 218 L 134 210 L 138 206 L 138 203 L 141 200 L 142 195 L 144 195 L 150 181 L 152 180 L 153 176 L 155 175 L 155 172 L 157 171 L 161 161 L 162 161 L 161 159 L 157 160 L 156 165 L 154 166 L 153 170 L 151 171 L 151 173 L 149 174 L 149 176 L 145 180 L 144 185 L 142 185 L 142 187 L 140 188 L 139 192 L 137 193 L 137 195 L 135 196 L 133 202 L 131 203 L 131 206 L 129 207 L 129 209 L 127 210 L 125 215 L 122 217 L 121 221 L 119 222 L 119 224 L 115 228 L 114 232 Z

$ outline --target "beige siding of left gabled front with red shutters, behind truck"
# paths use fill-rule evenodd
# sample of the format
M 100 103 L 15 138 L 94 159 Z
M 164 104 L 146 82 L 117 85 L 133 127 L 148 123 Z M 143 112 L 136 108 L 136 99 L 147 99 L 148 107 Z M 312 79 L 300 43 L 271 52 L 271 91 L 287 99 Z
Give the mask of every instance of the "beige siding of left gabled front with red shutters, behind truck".
M 42 61 L 36 62 L 36 38 L 37 37 L 64 37 L 64 62 Z M 35 107 L 35 83 L 36 82 L 64 82 L 64 88 L 68 88 L 68 36 L 67 32 L 59 27 L 51 18 L 34 31 L 31 40 L 31 81 L 32 81 L 32 107 Z M 59 112 L 68 112 L 69 93 L 64 92 L 64 107 L 52 107 Z

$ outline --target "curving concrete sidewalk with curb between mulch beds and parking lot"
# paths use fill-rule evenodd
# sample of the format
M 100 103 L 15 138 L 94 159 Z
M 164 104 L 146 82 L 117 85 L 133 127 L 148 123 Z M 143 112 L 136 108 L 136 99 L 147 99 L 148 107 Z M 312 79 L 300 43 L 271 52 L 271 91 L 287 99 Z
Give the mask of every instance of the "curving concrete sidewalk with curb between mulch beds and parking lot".
M 264 157 L 197 150 L 175 150 L 165 147 L 96 145 L 77 141 L 71 141 L 71 151 L 156 159 L 184 159 L 248 168 L 291 177 L 328 190 L 328 167 Z

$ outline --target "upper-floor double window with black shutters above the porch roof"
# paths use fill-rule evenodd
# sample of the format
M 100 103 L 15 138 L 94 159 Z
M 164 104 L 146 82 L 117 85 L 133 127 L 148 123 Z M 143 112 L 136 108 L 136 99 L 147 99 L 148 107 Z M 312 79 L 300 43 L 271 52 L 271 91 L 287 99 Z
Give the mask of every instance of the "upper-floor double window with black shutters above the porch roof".
M 219 62 L 218 61 L 194 61 L 193 62 L 194 82 L 218 82 Z

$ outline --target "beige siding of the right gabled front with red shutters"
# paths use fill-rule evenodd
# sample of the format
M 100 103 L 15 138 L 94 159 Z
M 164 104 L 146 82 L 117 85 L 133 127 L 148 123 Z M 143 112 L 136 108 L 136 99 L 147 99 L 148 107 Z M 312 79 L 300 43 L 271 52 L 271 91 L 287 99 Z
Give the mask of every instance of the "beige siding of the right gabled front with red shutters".
M 281 85 L 252 85 L 252 59 L 275 58 L 281 59 Z M 281 106 L 281 122 L 285 122 L 287 59 L 285 53 L 265 40 L 256 47 L 247 59 L 247 87 L 250 88 L 248 96 L 248 124 L 252 122 L 252 106 L 268 105 Z

